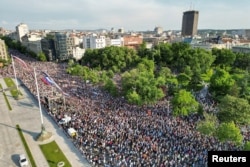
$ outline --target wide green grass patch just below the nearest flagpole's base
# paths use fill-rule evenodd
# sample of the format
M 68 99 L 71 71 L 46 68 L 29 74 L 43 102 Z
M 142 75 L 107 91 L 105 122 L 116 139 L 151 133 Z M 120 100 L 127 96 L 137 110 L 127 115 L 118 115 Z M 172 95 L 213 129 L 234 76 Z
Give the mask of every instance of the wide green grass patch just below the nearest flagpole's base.
M 50 167 L 57 167 L 57 164 L 61 161 L 64 162 L 64 167 L 71 167 L 69 161 L 55 141 L 52 141 L 48 144 L 42 144 L 40 145 L 40 148 Z

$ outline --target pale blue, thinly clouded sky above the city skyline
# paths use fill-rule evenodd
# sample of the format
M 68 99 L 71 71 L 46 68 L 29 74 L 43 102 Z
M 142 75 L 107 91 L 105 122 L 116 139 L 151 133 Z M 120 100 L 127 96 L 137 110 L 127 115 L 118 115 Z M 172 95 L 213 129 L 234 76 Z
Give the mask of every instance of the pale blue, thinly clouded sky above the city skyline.
M 182 15 L 198 10 L 198 29 L 250 29 L 249 0 L 1 0 L 0 27 L 180 30 Z

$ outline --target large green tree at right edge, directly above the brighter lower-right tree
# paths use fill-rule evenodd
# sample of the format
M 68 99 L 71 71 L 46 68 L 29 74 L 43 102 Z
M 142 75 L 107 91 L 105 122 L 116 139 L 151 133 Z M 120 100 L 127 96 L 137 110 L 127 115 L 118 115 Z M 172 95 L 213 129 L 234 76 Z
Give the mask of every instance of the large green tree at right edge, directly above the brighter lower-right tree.
M 220 121 L 250 124 L 250 105 L 247 100 L 226 95 L 221 99 L 218 108 Z

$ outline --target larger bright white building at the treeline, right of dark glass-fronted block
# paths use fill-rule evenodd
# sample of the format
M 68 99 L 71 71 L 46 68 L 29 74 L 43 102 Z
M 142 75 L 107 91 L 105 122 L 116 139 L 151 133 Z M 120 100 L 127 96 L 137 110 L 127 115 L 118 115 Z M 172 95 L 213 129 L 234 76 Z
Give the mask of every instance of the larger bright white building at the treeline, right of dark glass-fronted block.
M 106 47 L 105 36 L 97 36 L 96 34 L 91 34 L 83 37 L 83 47 L 85 49 L 100 49 Z

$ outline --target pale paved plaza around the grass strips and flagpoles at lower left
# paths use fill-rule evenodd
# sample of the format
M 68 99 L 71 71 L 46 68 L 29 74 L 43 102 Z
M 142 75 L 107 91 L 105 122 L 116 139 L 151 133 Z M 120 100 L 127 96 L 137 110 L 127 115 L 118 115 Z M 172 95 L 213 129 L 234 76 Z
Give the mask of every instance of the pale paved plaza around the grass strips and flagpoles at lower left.
M 0 79 L 0 83 L 3 88 L 6 88 L 3 79 Z M 44 143 L 35 140 L 41 131 L 41 117 L 38 104 L 26 88 L 20 87 L 20 90 L 23 94 L 23 98 L 20 100 L 13 99 L 9 91 L 5 92 L 13 109 L 11 111 L 8 110 L 2 93 L 0 94 L 0 167 L 17 166 L 18 154 L 25 153 L 20 137 L 15 129 L 16 124 L 19 124 L 23 130 L 24 137 L 37 166 L 48 167 L 49 165 L 39 148 L 39 144 Z M 43 119 L 46 130 L 53 134 L 52 138 L 46 142 L 55 140 L 72 167 L 90 166 L 87 160 L 75 148 L 71 139 L 64 134 L 62 129 L 58 128 L 44 111 Z

